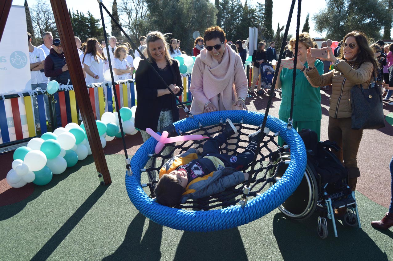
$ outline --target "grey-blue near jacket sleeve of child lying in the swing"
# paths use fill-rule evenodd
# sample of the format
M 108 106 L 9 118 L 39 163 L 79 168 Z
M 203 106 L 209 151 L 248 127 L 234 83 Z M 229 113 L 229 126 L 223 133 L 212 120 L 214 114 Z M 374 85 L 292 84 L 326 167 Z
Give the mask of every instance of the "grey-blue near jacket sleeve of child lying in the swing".
M 229 175 L 222 176 L 215 182 L 209 184 L 192 194 L 191 198 L 199 199 L 213 194 L 223 192 L 226 188 L 236 186 L 244 181 L 244 174 L 241 171 L 233 172 Z

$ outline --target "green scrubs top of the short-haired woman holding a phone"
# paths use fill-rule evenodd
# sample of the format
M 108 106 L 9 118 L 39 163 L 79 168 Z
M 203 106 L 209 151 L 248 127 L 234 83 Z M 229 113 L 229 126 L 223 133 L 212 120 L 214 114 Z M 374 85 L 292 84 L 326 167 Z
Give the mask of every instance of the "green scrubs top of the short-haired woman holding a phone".
M 304 64 L 307 67 L 307 62 Z M 323 62 L 316 60 L 315 67 L 320 75 L 323 74 Z M 281 105 L 278 112 L 280 118 L 288 119 L 291 109 L 293 69 L 283 68 L 281 79 Z M 294 121 L 314 121 L 322 118 L 321 90 L 312 87 L 304 73 L 296 69 L 295 95 L 294 95 Z

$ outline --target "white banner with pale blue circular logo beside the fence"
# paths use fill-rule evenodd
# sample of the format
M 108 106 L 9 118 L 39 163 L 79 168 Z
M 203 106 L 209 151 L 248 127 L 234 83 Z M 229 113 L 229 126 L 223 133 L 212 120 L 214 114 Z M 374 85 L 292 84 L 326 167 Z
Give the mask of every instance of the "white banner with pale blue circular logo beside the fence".
M 0 95 L 31 91 L 24 6 L 12 5 L 0 41 Z

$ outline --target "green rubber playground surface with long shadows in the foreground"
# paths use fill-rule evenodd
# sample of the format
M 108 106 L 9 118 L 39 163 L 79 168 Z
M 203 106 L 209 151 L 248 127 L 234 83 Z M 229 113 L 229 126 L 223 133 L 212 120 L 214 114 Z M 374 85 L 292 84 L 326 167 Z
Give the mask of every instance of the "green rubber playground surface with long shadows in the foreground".
M 109 186 L 98 185 L 89 156 L 27 199 L 0 207 L 0 260 L 393 260 L 392 230 L 369 225 L 387 209 L 361 193 L 362 228 L 336 221 L 338 238 L 330 220 L 322 240 L 317 214 L 299 222 L 278 210 L 231 230 L 183 232 L 141 215 L 125 190 L 124 156 L 106 158 Z

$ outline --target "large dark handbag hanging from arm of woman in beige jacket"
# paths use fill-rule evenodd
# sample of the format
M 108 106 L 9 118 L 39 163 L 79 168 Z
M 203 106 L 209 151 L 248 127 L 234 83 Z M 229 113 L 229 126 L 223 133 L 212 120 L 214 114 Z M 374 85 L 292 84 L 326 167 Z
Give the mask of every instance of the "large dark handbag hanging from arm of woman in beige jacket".
M 382 108 L 382 95 L 376 84 L 370 82 L 369 88 L 364 89 L 355 85 L 351 89 L 352 103 L 352 129 L 375 130 L 385 127 L 384 110 Z

